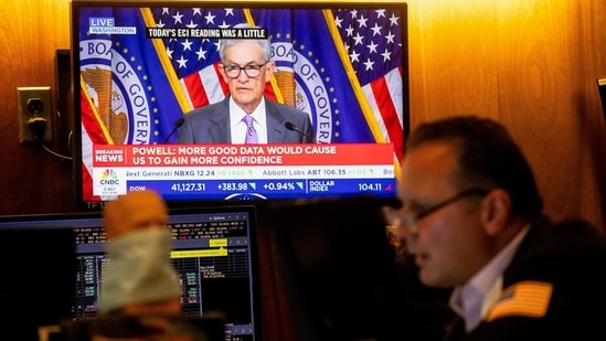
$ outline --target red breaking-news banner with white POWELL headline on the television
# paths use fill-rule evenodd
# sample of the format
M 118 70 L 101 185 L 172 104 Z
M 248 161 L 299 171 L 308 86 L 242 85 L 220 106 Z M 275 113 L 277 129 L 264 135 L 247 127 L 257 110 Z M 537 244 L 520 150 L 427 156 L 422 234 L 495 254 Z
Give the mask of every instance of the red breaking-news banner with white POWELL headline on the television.
M 93 168 L 386 166 L 391 143 L 95 145 Z

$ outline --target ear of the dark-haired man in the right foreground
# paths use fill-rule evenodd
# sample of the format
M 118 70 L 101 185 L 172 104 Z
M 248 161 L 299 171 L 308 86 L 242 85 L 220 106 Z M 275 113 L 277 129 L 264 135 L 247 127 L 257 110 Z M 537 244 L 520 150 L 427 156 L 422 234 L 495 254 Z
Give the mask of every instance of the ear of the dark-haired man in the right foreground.
M 486 233 L 489 235 L 500 233 L 507 226 L 511 216 L 511 198 L 509 193 L 502 189 L 495 189 L 483 198 L 481 206 L 481 220 Z

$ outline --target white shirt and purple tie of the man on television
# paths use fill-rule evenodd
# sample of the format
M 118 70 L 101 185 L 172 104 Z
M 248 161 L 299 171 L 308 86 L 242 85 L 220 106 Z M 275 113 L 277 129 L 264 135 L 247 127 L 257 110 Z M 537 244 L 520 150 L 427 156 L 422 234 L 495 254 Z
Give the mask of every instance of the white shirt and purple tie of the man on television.
M 234 98 L 230 97 L 230 126 L 232 131 L 232 143 L 242 145 L 246 137 L 246 122 L 243 121 L 244 116 L 253 116 L 253 126 L 257 131 L 258 142 L 267 143 L 267 121 L 265 119 L 265 98 L 252 114 L 246 114 L 241 107 L 235 104 Z

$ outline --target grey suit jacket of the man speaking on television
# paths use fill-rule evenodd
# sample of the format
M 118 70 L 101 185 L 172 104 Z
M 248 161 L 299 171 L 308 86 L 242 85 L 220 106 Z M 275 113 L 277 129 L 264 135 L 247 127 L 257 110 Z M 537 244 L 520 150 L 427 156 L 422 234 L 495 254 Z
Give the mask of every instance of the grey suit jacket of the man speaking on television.
M 294 107 L 265 98 L 268 143 L 311 143 L 313 127 L 309 116 Z M 179 128 L 179 143 L 231 143 L 230 97 L 222 102 L 198 108 L 184 115 L 185 121 Z M 288 130 L 286 122 L 294 124 L 301 134 Z

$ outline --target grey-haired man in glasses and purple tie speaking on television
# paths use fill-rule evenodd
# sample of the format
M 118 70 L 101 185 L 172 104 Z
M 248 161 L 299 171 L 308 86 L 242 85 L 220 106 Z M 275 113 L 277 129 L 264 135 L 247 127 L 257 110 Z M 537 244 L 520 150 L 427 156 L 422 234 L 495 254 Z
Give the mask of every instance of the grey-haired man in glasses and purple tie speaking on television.
M 237 24 L 235 29 L 251 28 Z M 309 115 L 264 96 L 276 68 L 269 39 L 224 39 L 220 72 L 230 88 L 224 100 L 184 115 L 180 143 L 310 143 Z

